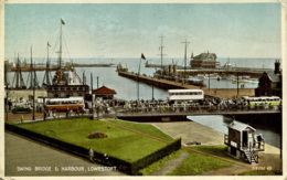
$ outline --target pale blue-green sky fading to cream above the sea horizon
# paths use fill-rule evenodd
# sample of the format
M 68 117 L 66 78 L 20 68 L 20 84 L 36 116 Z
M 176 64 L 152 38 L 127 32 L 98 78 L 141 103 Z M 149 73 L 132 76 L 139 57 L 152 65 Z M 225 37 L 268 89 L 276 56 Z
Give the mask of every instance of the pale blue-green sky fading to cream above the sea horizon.
M 219 57 L 280 57 L 279 3 L 91 3 L 4 7 L 6 59 L 56 57 L 61 19 L 63 57 L 164 57 L 193 52 Z M 159 57 L 159 56 L 158 56 Z

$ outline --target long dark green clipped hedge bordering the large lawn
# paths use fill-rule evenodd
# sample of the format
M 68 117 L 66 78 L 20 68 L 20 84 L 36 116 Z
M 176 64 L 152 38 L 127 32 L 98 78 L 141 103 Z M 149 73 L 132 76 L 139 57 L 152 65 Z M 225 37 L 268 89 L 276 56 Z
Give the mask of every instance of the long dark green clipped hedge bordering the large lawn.
M 60 139 L 55 139 L 53 137 L 49 137 L 45 135 L 41 135 L 39 133 L 21 128 L 17 125 L 12 124 L 4 124 L 6 130 L 13 131 L 15 134 L 19 134 L 21 136 L 25 136 L 28 138 L 41 141 L 43 144 L 56 147 L 59 149 L 68 151 L 71 153 L 88 158 L 88 149 L 82 146 L 77 146 L 67 141 L 63 141 Z M 104 153 L 94 151 L 94 160 L 96 162 L 99 162 L 102 165 L 106 166 L 116 166 L 118 170 L 128 173 L 128 174 L 140 174 L 139 170 L 142 168 L 146 168 L 150 163 L 153 163 L 158 161 L 159 159 L 162 159 L 164 156 L 170 155 L 173 151 L 177 151 L 178 149 L 181 148 L 181 139 L 177 139 L 173 142 L 162 147 L 161 149 L 139 159 L 136 160 L 135 162 L 128 162 L 126 160 L 109 156 L 106 158 Z

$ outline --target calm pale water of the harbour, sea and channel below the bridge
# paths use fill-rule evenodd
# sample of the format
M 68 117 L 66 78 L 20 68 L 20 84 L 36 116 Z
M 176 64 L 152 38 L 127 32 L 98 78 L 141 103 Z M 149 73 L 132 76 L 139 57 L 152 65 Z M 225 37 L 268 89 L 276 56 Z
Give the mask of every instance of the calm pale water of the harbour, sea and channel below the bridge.
M 35 60 L 36 63 L 44 63 L 43 60 Z M 172 63 L 172 61 L 179 65 L 183 64 L 183 59 L 174 59 L 174 60 L 164 60 L 163 63 Z M 114 63 L 118 64 L 121 63 L 124 67 L 128 67 L 129 72 L 138 72 L 139 70 L 139 62 L 140 59 L 115 59 Z M 153 60 L 153 63 L 159 63 L 159 60 Z M 182 63 L 181 63 L 182 62 Z M 227 59 L 219 59 L 221 65 L 224 65 L 227 62 Z M 258 68 L 274 68 L 275 59 L 231 59 L 231 64 L 237 67 L 258 67 Z M 82 60 L 74 60 L 74 63 L 111 63 L 111 60 L 96 60 L 96 59 L 82 59 Z M 141 60 L 140 73 L 147 75 L 153 75 L 155 68 L 146 68 L 145 67 L 145 60 Z M 137 83 L 135 81 L 121 77 L 117 75 L 116 67 L 76 67 L 75 68 L 77 74 L 83 77 L 83 73 L 85 72 L 86 75 L 86 83 L 91 85 L 91 73 L 93 73 L 93 87 L 97 87 L 97 78 L 98 77 L 98 85 L 99 87 L 105 85 L 109 88 L 113 88 L 117 92 L 116 98 L 120 99 L 137 99 Z M 52 72 L 52 76 L 55 72 Z M 26 77 L 29 73 L 23 73 L 24 83 L 26 83 Z M 9 80 L 12 83 L 14 73 L 9 73 Z M 44 72 L 36 72 L 38 80 L 40 84 L 43 82 Z M 205 81 L 208 85 L 208 81 Z M 236 88 L 236 84 L 232 84 L 231 81 L 216 81 L 211 80 L 210 82 L 211 88 Z M 245 83 L 245 87 L 257 87 L 257 84 L 254 83 Z M 152 97 L 152 86 L 140 83 L 139 84 L 139 98 L 140 99 L 151 99 Z M 157 87 L 153 87 L 153 96 L 156 99 L 167 99 L 167 92 Z M 204 126 L 211 127 L 215 130 L 226 134 L 227 127 L 226 123 L 224 121 L 223 116 L 190 116 L 190 119 L 200 123 Z M 255 127 L 255 126 L 254 126 Z M 276 147 L 279 147 L 280 136 L 278 131 L 274 129 L 264 129 L 262 127 L 255 127 L 256 134 L 262 133 L 265 137 L 265 140 Z

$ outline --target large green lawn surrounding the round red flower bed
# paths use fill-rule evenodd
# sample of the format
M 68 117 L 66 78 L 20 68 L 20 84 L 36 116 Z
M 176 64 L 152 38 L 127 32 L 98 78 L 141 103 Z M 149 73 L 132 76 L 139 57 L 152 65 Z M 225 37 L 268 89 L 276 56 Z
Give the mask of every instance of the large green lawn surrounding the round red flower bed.
M 33 124 L 20 124 L 19 127 L 36 131 L 63 141 L 72 142 L 111 157 L 132 162 L 162 148 L 167 144 L 123 129 L 103 120 L 61 119 Z M 92 131 L 103 131 L 108 138 L 88 139 Z M 159 130 L 158 130 L 159 131 Z

